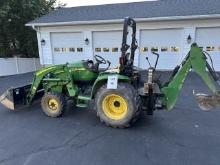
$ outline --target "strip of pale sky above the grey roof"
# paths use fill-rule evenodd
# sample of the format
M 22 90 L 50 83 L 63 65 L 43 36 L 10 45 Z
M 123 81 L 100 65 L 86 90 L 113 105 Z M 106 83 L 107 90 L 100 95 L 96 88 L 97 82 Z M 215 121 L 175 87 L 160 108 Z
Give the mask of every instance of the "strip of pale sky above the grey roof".
M 59 1 L 62 3 L 66 3 L 67 4 L 66 7 L 74 7 L 74 6 L 88 6 L 88 5 L 111 4 L 111 3 L 140 2 L 144 0 L 59 0 Z

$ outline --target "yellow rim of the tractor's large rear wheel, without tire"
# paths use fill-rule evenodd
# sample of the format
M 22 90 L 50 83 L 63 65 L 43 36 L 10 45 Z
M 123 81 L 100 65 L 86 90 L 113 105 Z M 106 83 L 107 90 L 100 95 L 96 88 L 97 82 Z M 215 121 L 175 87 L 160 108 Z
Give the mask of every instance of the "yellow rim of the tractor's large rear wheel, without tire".
M 123 97 L 111 94 L 103 99 L 102 109 L 108 118 L 112 120 L 121 120 L 128 112 L 128 105 Z

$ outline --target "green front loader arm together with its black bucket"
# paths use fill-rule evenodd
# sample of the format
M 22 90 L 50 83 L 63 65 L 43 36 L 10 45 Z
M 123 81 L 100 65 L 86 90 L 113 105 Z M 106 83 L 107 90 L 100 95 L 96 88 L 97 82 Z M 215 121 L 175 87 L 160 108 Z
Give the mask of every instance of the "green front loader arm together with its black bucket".
M 22 108 L 24 105 L 30 105 L 33 100 L 42 97 L 42 95 L 44 94 L 45 89 L 43 86 L 43 82 L 47 81 L 47 84 L 49 84 L 47 80 L 47 75 L 49 75 L 49 73 L 54 73 L 57 70 L 60 71 L 60 73 L 65 72 L 67 73 L 65 75 L 69 76 L 69 72 L 67 71 L 65 65 L 56 65 L 41 69 L 34 74 L 34 78 L 31 84 L 16 88 L 12 87 L 4 92 L 0 96 L 0 103 L 11 110 Z M 56 84 L 57 82 L 67 84 L 69 80 L 72 81 L 72 79 L 71 76 L 69 76 L 70 78 L 66 78 L 66 76 L 64 76 L 63 79 L 50 78 L 49 80 L 56 82 Z M 52 84 L 52 82 L 50 82 L 50 84 Z

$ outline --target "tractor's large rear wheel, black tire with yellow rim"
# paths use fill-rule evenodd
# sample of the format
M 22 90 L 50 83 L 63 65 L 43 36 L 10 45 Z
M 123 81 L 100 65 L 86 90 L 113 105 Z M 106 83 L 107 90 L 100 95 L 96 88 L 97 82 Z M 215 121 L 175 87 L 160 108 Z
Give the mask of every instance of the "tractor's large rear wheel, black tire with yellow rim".
M 128 83 L 119 83 L 116 90 L 107 89 L 107 85 L 103 85 L 98 90 L 95 100 L 97 116 L 107 126 L 127 128 L 140 115 L 140 97 Z

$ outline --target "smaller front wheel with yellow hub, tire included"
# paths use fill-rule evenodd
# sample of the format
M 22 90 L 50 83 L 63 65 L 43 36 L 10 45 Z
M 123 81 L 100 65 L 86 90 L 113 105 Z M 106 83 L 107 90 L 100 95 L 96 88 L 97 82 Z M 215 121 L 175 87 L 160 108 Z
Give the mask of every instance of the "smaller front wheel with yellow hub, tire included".
M 62 94 L 46 93 L 41 99 L 43 112 L 49 117 L 60 117 L 66 109 L 66 100 Z

